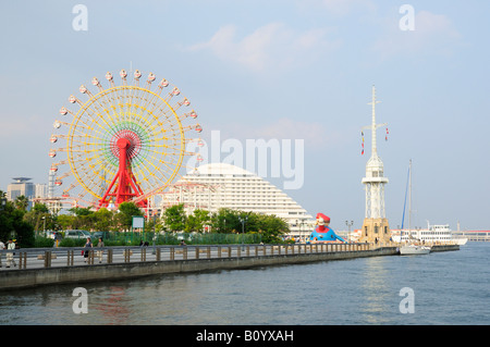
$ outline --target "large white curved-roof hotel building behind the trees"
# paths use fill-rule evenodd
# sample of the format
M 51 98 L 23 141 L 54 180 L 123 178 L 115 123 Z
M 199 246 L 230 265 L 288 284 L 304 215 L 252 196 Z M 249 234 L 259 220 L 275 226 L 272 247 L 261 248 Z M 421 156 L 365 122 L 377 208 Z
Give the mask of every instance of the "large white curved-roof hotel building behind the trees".
M 307 211 L 278 187 L 244 169 L 210 163 L 185 175 L 164 194 L 162 205 L 184 203 L 186 212 L 221 208 L 274 214 L 287 222 L 291 234 L 309 235 L 315 221 Z M 166 206 L 162 206 L 164 208 Z

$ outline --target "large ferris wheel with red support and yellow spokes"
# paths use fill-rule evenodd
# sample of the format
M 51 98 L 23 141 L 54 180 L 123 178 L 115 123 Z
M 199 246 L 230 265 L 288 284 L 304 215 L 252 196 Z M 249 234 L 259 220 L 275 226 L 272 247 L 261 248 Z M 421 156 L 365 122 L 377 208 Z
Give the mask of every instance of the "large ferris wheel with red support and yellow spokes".
M 77 110 L 60 109 L 50 141 L 64 140 L 65 146 L 51 148 L 49 156 L 65 158 L 51 165 L 57 175 L 54 185 L 63 185 L 63 197 L 88 201 L 91 195 L 90 203 L 97 207 L 135 201 L 145 208 L 149 196 L 172 183 L 184 157 L 196 154 L 186 151 L 186 145 L 200 140 L 187 138 L 186 133 L 200 133 L 203 128 L 199 124 L 184 125 L 197 113 L 167 79 L 152 91 L 152 73 L 142 86 L 138 70 L 131 82 L 122 70 L 119 86 L 110 72 L 105 77 L 108 88 L 97 77 L 91 79 L 96 92 L 79 87 L 85 101 L 70 96 L 69 102 Z M 58 173 L 63 165 L 64 173 Z

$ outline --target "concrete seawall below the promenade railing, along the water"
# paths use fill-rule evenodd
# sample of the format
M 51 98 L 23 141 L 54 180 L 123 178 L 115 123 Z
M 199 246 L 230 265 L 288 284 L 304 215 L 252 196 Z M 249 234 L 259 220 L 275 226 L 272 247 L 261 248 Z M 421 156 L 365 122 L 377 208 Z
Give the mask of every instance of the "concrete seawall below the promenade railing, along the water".
M 149 275 L 203 272 L 215 270 L 249 269 L 305 262 L 343 260 L 364 257 L 394 256 L 395 247 L 373 250 L 328 251 L 256 257 L 139 261 L 132 263 L 73 265 L 46 269 L 20 269 L 1 273 L 0 290 L 29 288 L 42 285 L 127 280 Z

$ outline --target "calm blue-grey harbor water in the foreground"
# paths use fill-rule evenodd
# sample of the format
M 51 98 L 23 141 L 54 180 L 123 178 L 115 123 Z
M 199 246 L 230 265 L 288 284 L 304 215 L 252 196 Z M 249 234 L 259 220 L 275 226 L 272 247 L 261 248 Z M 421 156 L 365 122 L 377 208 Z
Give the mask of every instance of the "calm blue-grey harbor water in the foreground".
M 490 243 L 458 251 L 0 293 L 0 324 L 490 324 Z M 75 287 L 87 313 L 75 314 Z M 414 312 L 401 313 L 402 288 Z

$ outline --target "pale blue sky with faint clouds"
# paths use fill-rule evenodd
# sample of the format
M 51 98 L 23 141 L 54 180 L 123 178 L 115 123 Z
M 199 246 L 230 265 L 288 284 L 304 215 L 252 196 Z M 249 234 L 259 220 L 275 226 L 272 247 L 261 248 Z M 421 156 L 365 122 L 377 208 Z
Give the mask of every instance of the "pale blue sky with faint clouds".
M 94 76 L 132 67 L 185 92 L 207 144 L 212 132 L 244 147 L 303 140 L 302 184 L 284 191 L 334 230 L 359 228 L 375 85 L 390 226 L 412 160 L 413 226 L 488 230 L 488 13 L 481 0 L 3 1 L 0 189 L 48 183 L 59 109 Z

